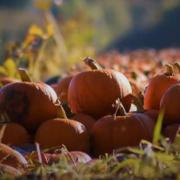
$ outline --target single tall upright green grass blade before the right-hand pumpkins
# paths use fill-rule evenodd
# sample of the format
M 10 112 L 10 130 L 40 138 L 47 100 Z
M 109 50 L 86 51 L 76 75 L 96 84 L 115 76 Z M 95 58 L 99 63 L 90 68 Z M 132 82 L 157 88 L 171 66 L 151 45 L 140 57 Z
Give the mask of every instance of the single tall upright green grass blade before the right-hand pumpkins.
M 161 138 L 161 128 L 162 128 L 163 118 L 164 118 L 164 109 L 162 109 L 158 115 L 158 119 L 154 128 L 153 144 L 158 144 L 158 141 Z

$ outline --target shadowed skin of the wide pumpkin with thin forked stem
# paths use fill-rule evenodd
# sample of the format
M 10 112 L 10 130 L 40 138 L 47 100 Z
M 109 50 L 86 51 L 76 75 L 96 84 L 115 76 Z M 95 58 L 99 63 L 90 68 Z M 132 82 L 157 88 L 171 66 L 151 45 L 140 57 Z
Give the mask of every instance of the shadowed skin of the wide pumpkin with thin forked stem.
M 154 121 L 144 114 L 128 116 L 105 116 L 92 130 L 95 155 L 112 153 L 114 149 L 137 146 L 142 139 L 152 140 Z

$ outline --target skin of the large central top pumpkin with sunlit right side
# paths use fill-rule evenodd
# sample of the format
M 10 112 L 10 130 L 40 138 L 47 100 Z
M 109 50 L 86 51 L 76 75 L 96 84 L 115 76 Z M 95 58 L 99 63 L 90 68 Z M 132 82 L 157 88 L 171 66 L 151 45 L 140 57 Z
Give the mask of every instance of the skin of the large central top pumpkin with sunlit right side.
M 68 103 L 74 113 L 85 113 L 99 118 L 112 114 L 112 104 L 120 98 L 129 111 L 131 102 L 125 97 L 132 93 L 128 79 L 113 70 L 92 70 L 77 74 L 70 82 Z

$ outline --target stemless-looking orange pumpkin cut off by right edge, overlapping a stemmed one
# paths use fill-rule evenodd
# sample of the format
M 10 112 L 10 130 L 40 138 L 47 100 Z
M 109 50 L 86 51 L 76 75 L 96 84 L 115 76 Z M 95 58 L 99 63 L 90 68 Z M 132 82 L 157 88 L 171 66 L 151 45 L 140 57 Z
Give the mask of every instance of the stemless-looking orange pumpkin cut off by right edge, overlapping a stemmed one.
M 164 123 L 180 123 L 180 83 L 171 86 L 163 95 L 160 102 L 164 109 Z

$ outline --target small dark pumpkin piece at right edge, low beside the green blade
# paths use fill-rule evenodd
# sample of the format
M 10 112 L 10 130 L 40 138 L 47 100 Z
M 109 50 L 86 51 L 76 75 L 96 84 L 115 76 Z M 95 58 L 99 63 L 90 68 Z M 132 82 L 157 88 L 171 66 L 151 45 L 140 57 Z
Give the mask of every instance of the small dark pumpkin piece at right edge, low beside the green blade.
M 163 135 L 168 137 L 170 141 L 173 142 L 178 133 L 178 130 L 180 130 L 180 124 L 171 124 L 163 129 Z

